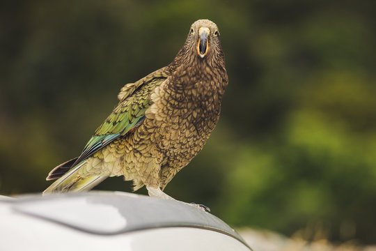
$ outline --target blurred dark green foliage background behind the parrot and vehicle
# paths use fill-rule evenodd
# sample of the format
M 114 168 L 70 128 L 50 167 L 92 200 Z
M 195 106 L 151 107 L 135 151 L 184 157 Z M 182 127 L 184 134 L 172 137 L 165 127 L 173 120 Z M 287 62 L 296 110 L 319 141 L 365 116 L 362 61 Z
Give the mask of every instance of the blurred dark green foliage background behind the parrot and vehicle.
M 7 1 L 0 194 L 41 192 L 117 104 L 217 23 L 229 84 L 203 151 L 166 193 L 234 227 L 376 243 L 374 1 Z M 96 189 L 130 192 L 109 178 Z M 141 190 L 146 193 L 146 190 Z

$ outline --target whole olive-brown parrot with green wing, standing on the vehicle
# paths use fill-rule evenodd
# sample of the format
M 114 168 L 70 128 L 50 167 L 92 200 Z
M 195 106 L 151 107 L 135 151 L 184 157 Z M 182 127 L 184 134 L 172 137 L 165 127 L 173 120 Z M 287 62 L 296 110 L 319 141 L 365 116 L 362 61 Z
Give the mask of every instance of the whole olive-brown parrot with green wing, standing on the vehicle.
M 57 180 L 43 194 L 84 192 L 124 176 L 134 191 L 145 185 L 150 197 L 173 199 L 164 188 L 203 149 L 219 120 L 228 84 L 219 36 L 214 22 L 194 22 L 168 66 L 120 89 L 118 105 L 81 155 L 49 172 L 46 180 Z

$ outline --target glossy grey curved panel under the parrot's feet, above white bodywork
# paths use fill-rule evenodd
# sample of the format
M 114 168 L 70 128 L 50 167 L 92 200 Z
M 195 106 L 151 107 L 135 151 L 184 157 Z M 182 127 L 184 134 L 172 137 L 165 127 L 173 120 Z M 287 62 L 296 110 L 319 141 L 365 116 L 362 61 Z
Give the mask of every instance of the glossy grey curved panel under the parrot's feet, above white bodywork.
M 127 192 L 92 191 L 1 199 L 19 213 L 86 231 L 112 235 L 159 227 L 196 227 L 226 234 L 248 246 L 225 222 L 180 201 Z

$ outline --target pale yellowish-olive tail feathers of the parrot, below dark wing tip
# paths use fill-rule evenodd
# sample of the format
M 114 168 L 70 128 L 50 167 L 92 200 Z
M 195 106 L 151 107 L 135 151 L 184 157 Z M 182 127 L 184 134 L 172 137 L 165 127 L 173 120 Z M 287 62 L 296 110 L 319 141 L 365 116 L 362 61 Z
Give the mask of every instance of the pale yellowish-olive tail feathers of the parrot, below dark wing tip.
M 85 192 L 91 190 L 95 185 L 101 183 L 108 176 L 85 176 L 83 177 L 79 174 L 79 169 L 86 165 L 86 160 L 80 162 L 78 165 L 73 167 L 66 174 L 58 178 L 52 185 L 50 185 L 43 195 L 52 192 Z

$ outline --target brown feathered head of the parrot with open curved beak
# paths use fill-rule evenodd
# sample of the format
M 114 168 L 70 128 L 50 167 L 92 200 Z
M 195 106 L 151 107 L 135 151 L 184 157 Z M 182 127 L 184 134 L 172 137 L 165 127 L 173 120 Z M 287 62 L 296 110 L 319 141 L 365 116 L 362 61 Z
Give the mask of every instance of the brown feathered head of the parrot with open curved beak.
M 188 63 L 193 60 L 206 61 L 208 59 L 224 61 L 219 30 L 217 24 L 210 20 L 197 20 L 191 25 L 185 45 L 175 60 Z

